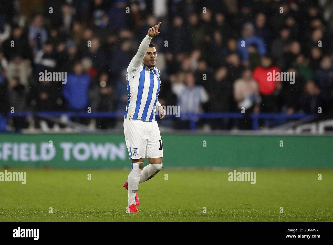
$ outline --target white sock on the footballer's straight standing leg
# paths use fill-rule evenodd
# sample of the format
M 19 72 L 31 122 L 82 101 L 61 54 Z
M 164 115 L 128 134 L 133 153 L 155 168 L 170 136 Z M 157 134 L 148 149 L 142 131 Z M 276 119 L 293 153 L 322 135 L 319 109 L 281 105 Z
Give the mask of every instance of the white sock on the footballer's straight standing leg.
M 135 195 L 138 191 L 140 174 L 144 167 L 144 162 L 133 162 L 132 169 L 128 175 L 128 203 L 127 206 L 135 204 Z

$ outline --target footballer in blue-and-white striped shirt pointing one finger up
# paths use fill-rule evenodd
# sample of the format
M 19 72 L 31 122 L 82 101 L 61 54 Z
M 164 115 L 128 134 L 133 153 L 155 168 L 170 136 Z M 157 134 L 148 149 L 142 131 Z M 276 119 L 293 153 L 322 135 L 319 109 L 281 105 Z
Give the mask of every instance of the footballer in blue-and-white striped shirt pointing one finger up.
M 163 144 L 155 114 L 163 119 L 165 110 L 159 102 L 161 87 L 160 70 L 155 66 L 157 52 L 153 37 L 160 34 L 161 22 L 149 28 L 139 50 L 127 67 L 128 101 L 124 116 L 126 146 L 132 161 L 132 168 L 125 181 L 128 190 L 128 213 L 139 213 L 139 184 L 153 178 L 163 166 Z M 149 164 L 144 167 L 145 158 Z

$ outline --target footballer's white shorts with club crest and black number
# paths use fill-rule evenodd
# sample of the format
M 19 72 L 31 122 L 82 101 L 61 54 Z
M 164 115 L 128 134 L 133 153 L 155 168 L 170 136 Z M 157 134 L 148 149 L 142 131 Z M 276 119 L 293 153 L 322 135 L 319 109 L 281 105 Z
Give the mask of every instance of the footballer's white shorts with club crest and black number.
M 130 158 L 163 157 L 163 145 L 157 122 L 124 118 L 124 134 Z

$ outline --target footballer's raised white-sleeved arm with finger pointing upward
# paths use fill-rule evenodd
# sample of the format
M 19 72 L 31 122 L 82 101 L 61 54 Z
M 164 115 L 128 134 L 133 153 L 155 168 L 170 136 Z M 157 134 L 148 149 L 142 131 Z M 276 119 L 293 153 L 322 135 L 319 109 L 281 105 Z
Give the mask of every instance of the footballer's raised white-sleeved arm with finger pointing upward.
M 142 40 L 142 42 L 139 46 L 138 52 L 133 57 L 133 59 L 130 62 L 130 65 L 127 68 L 127 71 L 129 73 L 134 73 L 139 68 L 142 60 L 145 57 L 145 54 L 147 52 L 147 49 L 149 47 L 149 44 L 150 44 L 152 38 L 157 36 L 158 34 L 160 34 L 160 32 L 159 32 L 160 25 L 161 25 L 161 21 L 159 22 L 158 25 L 149 28 L 147 36 L 144 38 L 144 40 Z

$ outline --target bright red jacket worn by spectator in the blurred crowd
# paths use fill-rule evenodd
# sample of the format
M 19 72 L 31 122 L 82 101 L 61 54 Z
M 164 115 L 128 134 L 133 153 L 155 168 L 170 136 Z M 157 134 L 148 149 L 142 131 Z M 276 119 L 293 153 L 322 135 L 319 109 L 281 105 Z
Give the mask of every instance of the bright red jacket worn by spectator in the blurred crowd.
M 271 73 L 271 78 L 273 77 L 273 81 L 269 81 L 268 73 Z M 272 66 L 267 69 L 263 68 L 262 66 L 258 66 L 253 70 L 252 77 L 259 85 L 259 91 L 261 94 L 271 95 L 273 94 L 276 84 L 280 83 L 281 81 L 276 81 L 274 74 L 277 72 L 281 72 L 281 70 L 277 66 Z

